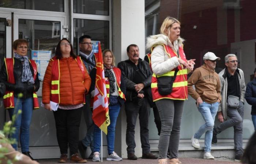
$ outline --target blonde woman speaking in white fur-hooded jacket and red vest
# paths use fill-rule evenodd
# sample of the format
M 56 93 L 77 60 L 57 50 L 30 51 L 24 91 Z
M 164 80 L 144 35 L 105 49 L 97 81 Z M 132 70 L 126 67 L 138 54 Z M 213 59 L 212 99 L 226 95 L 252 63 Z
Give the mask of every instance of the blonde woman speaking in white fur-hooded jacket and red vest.
M 152 50 L 153 101 L 161 118 L 158 163 L 167 163 L 169 145 L 170 164 L 180 164 L 178 145 L 183 104 L 188 96 L 187 69 L 193 70 L 195 59 L 187 60 L 185 57 L 184 40 L 180 38 L 180 22 L 177 19 L 166 17 L 160 31 L 161 34 L 147 38 L 147 48 Z

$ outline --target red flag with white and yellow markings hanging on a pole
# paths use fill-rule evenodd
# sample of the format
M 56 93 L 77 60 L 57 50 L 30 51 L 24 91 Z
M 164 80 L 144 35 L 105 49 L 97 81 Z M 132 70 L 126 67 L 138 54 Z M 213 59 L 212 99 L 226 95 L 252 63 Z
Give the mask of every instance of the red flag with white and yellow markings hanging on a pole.
M 98 52 L 94 53 L 97 61 L 97 71 L 93 101 L 93 121 L 95 125 L 97 125 L 105 134 L 107 134 L 110 120 L 100 42 L 98 42 L 98 48 Z

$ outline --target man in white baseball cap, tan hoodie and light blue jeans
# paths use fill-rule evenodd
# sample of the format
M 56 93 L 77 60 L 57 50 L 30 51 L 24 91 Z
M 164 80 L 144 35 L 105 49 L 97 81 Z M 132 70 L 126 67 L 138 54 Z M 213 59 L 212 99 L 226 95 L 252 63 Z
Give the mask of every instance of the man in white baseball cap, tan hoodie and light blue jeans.
M 188 79 L 188 94 L 196 100 L 196 105 L 205 120 L 191 138 L 192 146 L 200 148 L 199 139 L 204 137 L 204 159 L 214 159 L 211 155 L 212 130 L 214 119 L 221 102 L 221 85 L 218 74 L 215 72 L 216 60 L 220 60 L 214 53 L 207 52 L 204 57 L 204 65 L 195 69 Z M 196 89 L 193 89 L 195 85 Z

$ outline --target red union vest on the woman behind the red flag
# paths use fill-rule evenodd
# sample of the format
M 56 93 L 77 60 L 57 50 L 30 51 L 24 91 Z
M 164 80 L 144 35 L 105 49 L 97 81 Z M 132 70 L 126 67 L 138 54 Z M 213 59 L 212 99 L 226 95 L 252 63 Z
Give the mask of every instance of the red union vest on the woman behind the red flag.
M 113 71 L 114 74 L 116 75 L 116 83 L 117 83 L 117 89 L 118 89 L 118 95 L 124 99 L 124 101 L 126 101 L 125 99 L 125 95 L 124 93 L 121 91 L 120 89 L 120 84 L 121 84 L 121 70 L 118 69 L 117 67 L 113 67 Z M 106 91 L 107 91 L 107 97 L 108 97 L 108 102 L 109 102 L 109 79 L 105 78 L 105 82 L 106 82 Z

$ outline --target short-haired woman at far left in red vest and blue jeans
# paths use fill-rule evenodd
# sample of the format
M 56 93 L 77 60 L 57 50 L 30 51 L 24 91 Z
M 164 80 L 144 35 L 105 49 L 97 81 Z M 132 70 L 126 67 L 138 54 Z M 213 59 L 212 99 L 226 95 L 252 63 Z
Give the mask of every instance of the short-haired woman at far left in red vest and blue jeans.
M 22 153 L 34 160 L 29 152 L 29 126 L 33 109 L 39 108 L 35 93 L 39 89 L 37 65 L 27 56 L 27 40 L 15 40 L 13 49 L 14 58 L 4 59 L 0 75 L 6 86 L 4 106 L 8 109 L 11 120 L 16 114 L 13 124 L 16 130 L 10 138 L 14 138 L 17 142 L 20 138 Z M 22 113 L 18 114 L 18 110 Z M 17 150 L 17 144 L 13 144 L 12 147 Z

